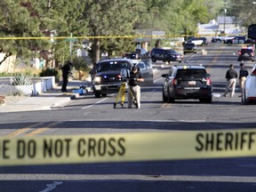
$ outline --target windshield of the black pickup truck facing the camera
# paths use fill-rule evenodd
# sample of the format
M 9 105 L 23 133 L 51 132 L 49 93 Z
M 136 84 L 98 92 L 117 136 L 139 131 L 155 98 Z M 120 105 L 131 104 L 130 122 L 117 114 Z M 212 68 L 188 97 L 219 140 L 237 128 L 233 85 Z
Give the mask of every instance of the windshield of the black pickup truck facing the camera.
M 100 62 L 97 71 L 98 72 L 104 72 L 109 70 L 121 70 L 122 68 L 132 68 L 130 62 L 125 60 L 111 60 L 111 61 L 104 61 Z

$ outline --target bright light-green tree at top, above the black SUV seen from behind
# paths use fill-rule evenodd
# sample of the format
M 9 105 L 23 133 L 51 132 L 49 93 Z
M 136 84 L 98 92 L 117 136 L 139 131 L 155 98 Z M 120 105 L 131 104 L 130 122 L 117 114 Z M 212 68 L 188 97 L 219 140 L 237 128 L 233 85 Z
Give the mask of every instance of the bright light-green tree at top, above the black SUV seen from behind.
M 150 0 L 151 28 L 164 30 L 170 36 L 194 35 L 199 22 L 206 23 L 211 19 L 205 4 L 204 0 Z

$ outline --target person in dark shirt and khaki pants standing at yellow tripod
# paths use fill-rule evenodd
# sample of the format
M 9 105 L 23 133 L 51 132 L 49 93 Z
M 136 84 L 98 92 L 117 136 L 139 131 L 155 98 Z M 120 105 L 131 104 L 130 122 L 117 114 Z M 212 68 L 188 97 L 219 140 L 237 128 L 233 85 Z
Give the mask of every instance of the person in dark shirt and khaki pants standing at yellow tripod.
M 128 108 L 132 108 L 132 100 L 136 101 L 136 107 L 140 108 L 140 82 L 144 82 L 144 78 L 136 66 L 132 67 L 129 80 L 128 91 Z M 133 95 L 133 97 L 132 97 Z

